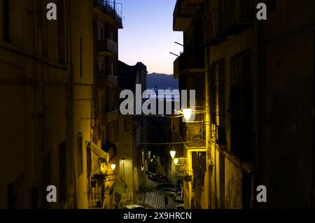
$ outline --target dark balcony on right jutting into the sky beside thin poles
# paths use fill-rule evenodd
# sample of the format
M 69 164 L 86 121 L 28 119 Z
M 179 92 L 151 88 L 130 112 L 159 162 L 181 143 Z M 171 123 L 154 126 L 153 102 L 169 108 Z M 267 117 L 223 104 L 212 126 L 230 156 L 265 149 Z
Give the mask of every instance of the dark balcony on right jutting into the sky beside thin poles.
M 204 72 L 204 50 L 186 50 L 174 61 L 174 78 L 190 73 Z

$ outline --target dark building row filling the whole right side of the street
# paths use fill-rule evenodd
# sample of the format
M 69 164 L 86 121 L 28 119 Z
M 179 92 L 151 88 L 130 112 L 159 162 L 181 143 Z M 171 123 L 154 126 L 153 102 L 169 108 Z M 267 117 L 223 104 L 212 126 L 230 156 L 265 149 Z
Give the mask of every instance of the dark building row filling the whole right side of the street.
M 258 3 L 176 2 L 174 31 L 183 31 L 184 52 L 174 62 L 174 76 L 181 89 L 192 89 L 182 81 L 188 72 L 194 72 L 188 83 L 199 76 L 204 83 L 203 97 L 197 96 L 204 101 L 195 112 L 204 112 L 206 154 L 193 158 L 186 149 L 186 166 L 193 169 L 186 208 L 312 207 L 313 130 L 307 120 L 314 108 L 314 3 L 266 1 L 267 21 L 257 20 Z M 196 47 L 203 53 L 187 56 Z M 193 136 L 189 122 L 183 125 L 181 135 Z M 198 177 L 203 187 L 196 187 Z M 292 177 L 299 185 L 290 184 Z M 267 187 L 267 203 L 256 201 L 258 185 Z

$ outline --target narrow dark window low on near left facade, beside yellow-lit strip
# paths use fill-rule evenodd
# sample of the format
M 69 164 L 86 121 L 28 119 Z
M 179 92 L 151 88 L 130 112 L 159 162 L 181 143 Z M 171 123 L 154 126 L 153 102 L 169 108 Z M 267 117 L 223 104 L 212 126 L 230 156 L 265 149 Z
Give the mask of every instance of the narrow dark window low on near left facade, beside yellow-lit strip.
M 59 201 L 65 201 L 67 198 L 66 160 L 66 141 L 64 141 L 59 145 Z

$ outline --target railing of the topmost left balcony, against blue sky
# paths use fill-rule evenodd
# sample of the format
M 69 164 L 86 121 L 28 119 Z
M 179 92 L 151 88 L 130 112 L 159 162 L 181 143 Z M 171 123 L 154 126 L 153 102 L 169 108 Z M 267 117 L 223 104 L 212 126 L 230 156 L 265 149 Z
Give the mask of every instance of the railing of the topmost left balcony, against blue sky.
M 94 0 L 94 6 L 101 8 L 104 13 L 107 13 L 116 20 L 120 25 L 123 25 L 123 5 L 116 3 L 116 1 L 109 0 Z

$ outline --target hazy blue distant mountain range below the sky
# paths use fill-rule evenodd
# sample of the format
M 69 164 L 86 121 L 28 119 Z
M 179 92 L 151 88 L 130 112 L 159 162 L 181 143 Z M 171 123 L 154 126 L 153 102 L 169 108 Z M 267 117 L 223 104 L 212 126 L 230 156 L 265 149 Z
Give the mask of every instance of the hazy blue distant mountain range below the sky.
M 155 86 L 160 90 L 179 89 L 179 80 L 174 79 L 173 75 L 153 73 L 147 75 L 146 86 L 148 89 L 153 89 Z

